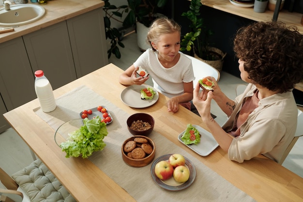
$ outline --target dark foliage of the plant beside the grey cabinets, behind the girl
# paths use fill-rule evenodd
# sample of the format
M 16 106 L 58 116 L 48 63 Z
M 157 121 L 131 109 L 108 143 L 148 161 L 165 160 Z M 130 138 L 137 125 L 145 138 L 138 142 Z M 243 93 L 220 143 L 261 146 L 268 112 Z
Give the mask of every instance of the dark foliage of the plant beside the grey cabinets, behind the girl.
M 121 42 L 123 33 L 117 28 L 111 28 L 110 19 L 114 19 L 122 23 L 123 28 L 129 28 L 131 26 L 136 27 L 136 23 L 142 23 L 144 27 L 150 27 L 152 21 L 158 17 L 159 10 L 163 8 L 167 0 L 127 0 L 128 5 L 115 6 L 109 3 L 109 0 L 104 0 L 105 6 L 105 31 L 106 39 L 110 39 L 111 47 L 107 50 L 108 58 L 111 54 L 114 54 L 116 58 L 121 58 L 119 47 L 124 47 Z M 126 15 L 124 20 L 122 16 Z M 146 33 L 145 33 L 146 34 Z M 144 37 L 146 39 L 146 35 Z

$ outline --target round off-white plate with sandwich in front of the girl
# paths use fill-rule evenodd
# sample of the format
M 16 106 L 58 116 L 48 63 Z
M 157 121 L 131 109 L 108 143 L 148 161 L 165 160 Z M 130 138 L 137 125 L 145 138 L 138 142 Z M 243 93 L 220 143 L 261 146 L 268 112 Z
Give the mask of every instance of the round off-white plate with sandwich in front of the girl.
M 125 105 L 128 105 L 132 108 L 147 108 L 155 104 L 159 99 L 159 93 L 154 89 L 153 91 L 156 94 L 153 96 L 152 100 L 142 100 L 140 90 L 143 88 L 152 88 L 149 85 L 131 85 L 128 86 L 121 92 L 120 98 Z

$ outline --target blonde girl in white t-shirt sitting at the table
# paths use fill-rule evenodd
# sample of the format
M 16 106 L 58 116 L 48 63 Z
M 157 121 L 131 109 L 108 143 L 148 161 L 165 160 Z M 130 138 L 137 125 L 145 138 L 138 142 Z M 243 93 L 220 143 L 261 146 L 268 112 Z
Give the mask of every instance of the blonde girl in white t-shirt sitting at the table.
M 136 77 L 139 66 L 145 69 L 154 88 L 169 97 L 167 110 L 177 112 L 179 104 L 191 109 L 194 71 L 191 60 L 180 50 L 181 27 L 168 18 L 156 19 L 148 32 L 147 40 L 152 48 L 123 72 L 119 82 L 124 85 L 141 85 L 149 77 Z

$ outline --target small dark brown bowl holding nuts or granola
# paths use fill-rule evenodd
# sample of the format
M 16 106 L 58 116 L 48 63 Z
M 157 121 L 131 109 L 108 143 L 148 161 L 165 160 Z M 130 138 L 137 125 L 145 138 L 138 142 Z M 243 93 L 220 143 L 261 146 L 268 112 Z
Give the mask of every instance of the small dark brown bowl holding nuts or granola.
M 140 120 L 142 122 L 147 122 L 147 123 L 151 124 L 152 127 L 150 129 L 144 130 L 144 131 L 136 131 L 136 130 L 131 129 L 132 123 L 134 121 L 138 121 L 138 120 Z M 151 132 L 153 130 L 153 127 L 154 127 L 154 124 L 155 124 L 155 120 L 149 114 L 146 114 L 146 113 L 136 113 L 136 114 L 133 114 L 130 117 L 128 117 L 128 119 L 126 121 L 126 124 L 127 124 L 128 131 L 131 134 L 133 134 L 133 135 L 148 136 L 149 134 L 151 134 Z

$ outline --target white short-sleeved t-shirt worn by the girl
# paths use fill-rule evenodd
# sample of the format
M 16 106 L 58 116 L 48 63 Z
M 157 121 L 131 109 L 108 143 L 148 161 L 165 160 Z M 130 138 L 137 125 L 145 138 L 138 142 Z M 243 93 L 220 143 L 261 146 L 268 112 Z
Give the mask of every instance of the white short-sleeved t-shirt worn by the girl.
M 153 87 L 167 97 L 182 95 L 183 82 L 189 83 L 195 79 L 192 61 L 182 52 L 180 59 L 170 68 L 165 68 L 158 59 L 158 51 L 147 49 L 134 62 L 134 66 L 141 66 L 152 77 Z

